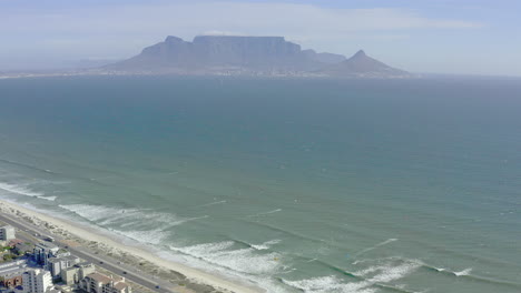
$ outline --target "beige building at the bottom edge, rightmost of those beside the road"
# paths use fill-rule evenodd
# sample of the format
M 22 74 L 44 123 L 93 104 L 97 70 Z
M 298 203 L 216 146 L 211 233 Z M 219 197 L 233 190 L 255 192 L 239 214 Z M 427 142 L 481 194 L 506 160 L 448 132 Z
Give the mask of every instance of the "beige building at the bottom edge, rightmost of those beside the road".
M 80 281 L 80 289 L 87 293 L 131 293 L 125 277 L 112 277 L 100 273 L 91 273 Z

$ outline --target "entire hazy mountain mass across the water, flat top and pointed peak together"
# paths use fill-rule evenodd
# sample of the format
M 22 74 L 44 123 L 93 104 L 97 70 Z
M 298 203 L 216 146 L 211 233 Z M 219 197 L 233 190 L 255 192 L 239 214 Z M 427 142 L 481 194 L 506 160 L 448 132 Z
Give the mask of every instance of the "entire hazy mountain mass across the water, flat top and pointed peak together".
M 299 44 L 288 42 L 284 37 L 198 36 L 188 42 L 169 36 L 165 41 L 145 48 L 138 55 L 104 69 L 177 74 L 324 77 L 399 73 L 397 70 L 384 70 L 385 64 L 365 53 L 357 55 L 346 60 L 342 54 L 302 50 Z

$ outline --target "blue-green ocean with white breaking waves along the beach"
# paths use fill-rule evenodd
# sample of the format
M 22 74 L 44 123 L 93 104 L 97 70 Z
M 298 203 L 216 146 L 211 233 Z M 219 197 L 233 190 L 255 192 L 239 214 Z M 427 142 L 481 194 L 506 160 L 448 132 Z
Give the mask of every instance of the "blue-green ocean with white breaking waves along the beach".
M 0 199 L 268 292 L 521 292 L 521 82 L 0 80 Z

